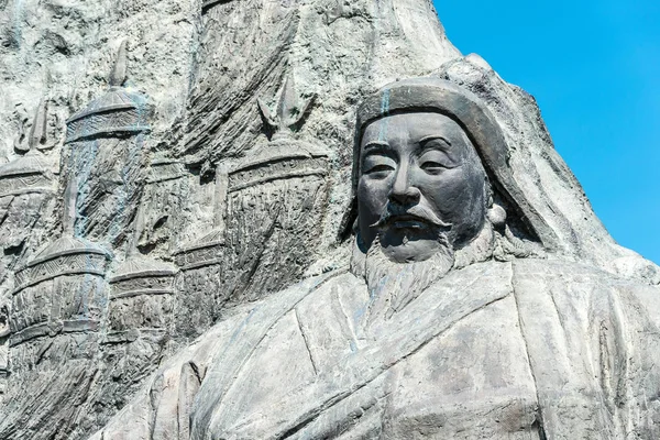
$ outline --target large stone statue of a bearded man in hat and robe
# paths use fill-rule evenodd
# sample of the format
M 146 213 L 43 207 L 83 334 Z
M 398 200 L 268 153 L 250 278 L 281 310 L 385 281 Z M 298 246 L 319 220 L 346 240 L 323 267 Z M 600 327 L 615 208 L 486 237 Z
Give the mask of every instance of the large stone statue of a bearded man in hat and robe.
M 558 251 L 484 102 L 358 111 L 350 265 L 243 305 L 95 439 L 651 439 L 660 292 Z

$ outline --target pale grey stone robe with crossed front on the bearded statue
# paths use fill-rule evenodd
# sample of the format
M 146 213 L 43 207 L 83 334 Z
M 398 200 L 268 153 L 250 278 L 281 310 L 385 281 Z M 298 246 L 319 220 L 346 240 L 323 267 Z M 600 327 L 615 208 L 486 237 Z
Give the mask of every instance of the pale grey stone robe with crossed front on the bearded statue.
M 96 438 L 660 438 L 657 287 L 518 260 L 373 299 L 340 272 L 237 311 Z

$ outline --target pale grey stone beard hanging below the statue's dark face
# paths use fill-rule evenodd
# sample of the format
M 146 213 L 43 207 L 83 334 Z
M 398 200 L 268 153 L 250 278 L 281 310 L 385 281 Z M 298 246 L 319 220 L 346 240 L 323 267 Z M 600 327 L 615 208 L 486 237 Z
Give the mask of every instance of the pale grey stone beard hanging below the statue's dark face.
M 364 277 L 370 295 L 363 321 L 365 327 L 392 318 L 451 271 L 454 251 L 444 232 L 439 234 L 438 242 L 440 246 L 430 258 L 407 263 L 393 262 L 383 253 L 380 234 L 366 255 L 358 244 L 354 245 L 351 270 L 353 274 Z

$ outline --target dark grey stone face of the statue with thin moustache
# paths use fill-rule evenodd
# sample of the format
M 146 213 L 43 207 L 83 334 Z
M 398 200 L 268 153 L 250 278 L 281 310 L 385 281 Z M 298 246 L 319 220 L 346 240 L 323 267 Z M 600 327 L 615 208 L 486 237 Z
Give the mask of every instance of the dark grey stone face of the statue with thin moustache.
M 454 249 L 481 231 L 486 175 L 468 135 L 435 112 L 388 116 L 361 140 L 359 228 L 369 249 L 378 235 L 395 262 L 424 261 L 444 240 Z

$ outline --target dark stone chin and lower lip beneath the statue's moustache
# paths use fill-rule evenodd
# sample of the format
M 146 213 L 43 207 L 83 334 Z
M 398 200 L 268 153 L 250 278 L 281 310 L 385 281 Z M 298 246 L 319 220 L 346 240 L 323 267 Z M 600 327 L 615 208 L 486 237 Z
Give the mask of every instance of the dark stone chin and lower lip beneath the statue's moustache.
M 392 229 L 380 237 L 383 254 L 395 263 L 422 262 L 432 257 L 447 244 L 438 240 L 436 231 Z

